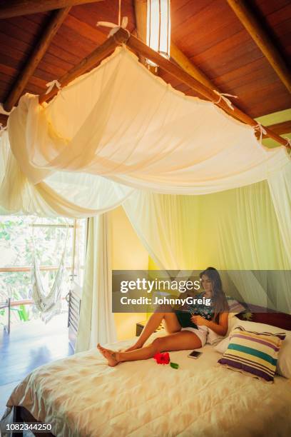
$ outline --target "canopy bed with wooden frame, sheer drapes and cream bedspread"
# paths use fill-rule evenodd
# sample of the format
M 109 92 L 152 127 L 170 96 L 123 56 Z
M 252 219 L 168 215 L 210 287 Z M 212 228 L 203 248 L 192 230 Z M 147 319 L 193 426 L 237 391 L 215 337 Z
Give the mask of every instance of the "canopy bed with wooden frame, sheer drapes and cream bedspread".
M 152 360 L 108 368 L 95 349 L 88 351 L 96 341 L 115 340 L 106 213 L 121 204 L 160 268 L 203 268 L 211 261 L 220 269 L 250 269 L 252 283 L 252 270 L 286 271 L 280 283 L 266 274 L 274 309 L 286 313 L 291 328 L 290 142 L 266 129 L 282 146 L 265 149 L 256 136 L 262 126 L 227 99 L 205 86 L 200 91 L 210 101 L 185 96 L 128 48 L 197 86 L 119 29 L 78 73 L 103 60 L 99 66 L 78 78 L 76 70 L 68 74 L 58 94 L 53 88 L 21 97 L 1 133 L 2 214 L 91 217 L 80 353 L 27 376 L 11 395 L 6 418 L 12 406 L 26 408 L 59 437 L 287 436 L 290 381 L 275 376 L 267 385 L 218 367 L 210 345 L 194 364 L 187 351 L 173 353 L 176 373 Z M 203 246 L 211 253 L 219 247 L 217 258 L 208 258 Z M 270 299 L 263 280 L 255 278 L 250 290 L 239 272 L 231 279 L 247 302 Z

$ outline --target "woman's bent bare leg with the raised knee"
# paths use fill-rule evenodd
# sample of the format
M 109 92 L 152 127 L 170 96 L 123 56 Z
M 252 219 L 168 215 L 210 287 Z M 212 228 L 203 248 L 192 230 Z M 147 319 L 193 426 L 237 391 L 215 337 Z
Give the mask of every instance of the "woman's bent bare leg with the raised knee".
M 135 351 L 136 349 L 142 348 L 144 343 L 146 343 L 148 340 L 148 337 L 155 332 L 156 328 L 160 326 L 160 323 L 163 320 L 165 321 L 165 329 L 168 333 L 180 331 L 181 326 L 178 322 L 178 318 L 175 313 L 170 312 L 170 308 L 169 312 L 153 313 L 148 319 L 146 326 L 143 328 L 141 335 L 138 337 L 138 341 L 133 346 L 126 349 L 126 352 Z

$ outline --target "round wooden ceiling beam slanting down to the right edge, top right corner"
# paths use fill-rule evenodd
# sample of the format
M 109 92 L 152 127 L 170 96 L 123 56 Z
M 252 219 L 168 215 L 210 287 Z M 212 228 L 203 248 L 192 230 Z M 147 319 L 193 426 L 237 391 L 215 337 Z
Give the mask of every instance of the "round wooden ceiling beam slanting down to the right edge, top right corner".
M 280 52 L 275 47 L 267 31 L 262 27 L 259 19 L 253 14 L 250 5 L 245 0 L 227 0 L 231 9 L 238 16 L 245 29 L 255 41 L 267 60 L 270 62 L 272 68 L 280 77 L 282 83 L 287 90 L 291 92 L 291 74 Z

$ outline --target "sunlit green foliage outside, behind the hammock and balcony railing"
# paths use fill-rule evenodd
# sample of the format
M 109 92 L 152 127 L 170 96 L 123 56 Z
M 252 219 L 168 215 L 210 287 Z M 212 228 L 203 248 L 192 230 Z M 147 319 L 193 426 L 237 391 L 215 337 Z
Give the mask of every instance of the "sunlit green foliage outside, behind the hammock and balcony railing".
M 37 221 L 36 221 L 37 220 Z M 41 266 L 58 266 L 66 241 L 66 228 L 39 227 L 32 224 L 66 224 L 64 218 L 34 218 L 27 216 L 0 216 L 0 267 L 28 267 L 30 268 L 34 251 Z M 69 231 L 72 239 L 72 232 Z M 72 244 L 68 241 L 66 263 L 71 264 Z M 49 289 L 56 272 L 42 271 L 44 283 Z M 68 282 L 68 278 L 66 278 Z M 31 298 L 30 271 L 12 271 L 0 273 L 0 301 L 7 297 L 13 300 Z M 21 321 L 28 321 L 37 316 L 34 306 L 14 307 L 11 317 Z M 6 313 L 0 312 L 1 318 Z

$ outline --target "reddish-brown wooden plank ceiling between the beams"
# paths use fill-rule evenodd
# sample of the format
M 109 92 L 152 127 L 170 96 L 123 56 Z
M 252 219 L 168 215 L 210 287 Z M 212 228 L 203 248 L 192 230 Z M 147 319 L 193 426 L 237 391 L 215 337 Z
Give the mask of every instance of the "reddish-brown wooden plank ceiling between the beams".
M 92 1 L 92 0 L 91 0 Z M 2 1 L 2 4 L 9 1 Z M 41 2 L 45 3 L 45 2 Z M 291 1 L 249 0 L 262 28 L 285 64 L 291 55 Z M 172 0 L 172 40 L 213 84 L 237 95 L 235 104 L 253 118 L 290 108 L 290 93 L 226 0 Z M 1 12 L 1 4 L 0 4 Z M 24 69 L 53 12 L 0 20 L 0 102 L 5 102 Z M 128 30 L 136 29 L 133 0 L 122 1 Z M 46 84 L 66 74 L 104 41 L 108 29 L 97 21 L 118 20 L 118 0 L 71 7 L 29 78 L 24 91 L 41 94 Z M 289 64 L 290 66 L 290 64 Z M 193 91 L 163 71 L 176 89 Z

